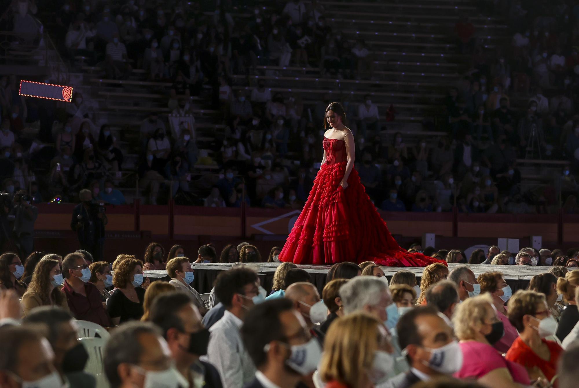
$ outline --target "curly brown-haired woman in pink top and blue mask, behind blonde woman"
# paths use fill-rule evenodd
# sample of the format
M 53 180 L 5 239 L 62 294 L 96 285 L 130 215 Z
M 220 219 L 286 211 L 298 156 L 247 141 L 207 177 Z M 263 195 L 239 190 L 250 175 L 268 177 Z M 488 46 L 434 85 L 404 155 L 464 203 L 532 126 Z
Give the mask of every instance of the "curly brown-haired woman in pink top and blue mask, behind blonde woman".
M 481 285 L 481 294 L 488 292 L 493 298 L 493 306 L 497 311 L 497 317 L 501 320 L 504 327 L 503 337 L 495 343 L 494 349 L 501 353 L 507 353 L 515 339 L 518 338 L 519 333 L 511 324 L 507 317 L 507 309 L 505 303 L 511 297 L 511 287 L 503 279 L 501 272 L 485 272 L 478 276 L 478 283 Z

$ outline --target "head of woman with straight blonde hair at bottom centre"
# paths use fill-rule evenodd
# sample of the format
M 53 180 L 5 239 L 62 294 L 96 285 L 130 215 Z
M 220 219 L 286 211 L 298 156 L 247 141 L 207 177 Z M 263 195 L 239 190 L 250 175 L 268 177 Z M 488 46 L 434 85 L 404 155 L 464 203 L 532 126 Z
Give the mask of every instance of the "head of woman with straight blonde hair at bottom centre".
M 325 336 L 320 376 L 325 388 L 371 388 L 387 378 L 394 357 L 389 334 L 365 312 L 338 318 Z

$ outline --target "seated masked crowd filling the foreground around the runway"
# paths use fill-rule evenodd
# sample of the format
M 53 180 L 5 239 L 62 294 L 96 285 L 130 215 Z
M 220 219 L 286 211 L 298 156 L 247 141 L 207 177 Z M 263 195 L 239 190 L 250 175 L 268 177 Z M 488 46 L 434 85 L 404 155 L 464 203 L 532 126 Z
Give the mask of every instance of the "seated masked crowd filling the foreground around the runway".
M 467 261 L 459 250 L 413 244 L 409 251 Z M 267 261 L 276 262 L 279 252 L 273 247 Z M 310 273 L 292 263 L 278 266 L 273 284 L 262 283 L 251 263 L 266 259 L 248 243 L 228 245 L 219 256 L 202 246 L 191 258 L 182 246 L 165 252 L 151 243 L 143 259 L 121 254 L 110 263 L 93 262 L 86 251 L 64 258 L 34 252 L 24 262 L 6 252 L 0 383 L 571 388 L 579 261 L 577 250 L 562 254 L 522 248 L 514 255 L 495 246 L 472 252 L 468 263 L 475 265 L 505 258 L 545 269 L 516 292 L 496 267 L 475 276 L 468 265 L 449 271 L 434 263 L 420 279 L 408 270 L 388 279 L 368 261 L 333 265 L 320 294 Z M 191 286 L 192 263 L 215 262 L 233 267 L 201 297 Z M 151 281 L 151 269 L 166 269 L 171 280 Z M 87 324 L 100 338 L 86 336 Z M 94 353 L 97 343 L 102 352 Z

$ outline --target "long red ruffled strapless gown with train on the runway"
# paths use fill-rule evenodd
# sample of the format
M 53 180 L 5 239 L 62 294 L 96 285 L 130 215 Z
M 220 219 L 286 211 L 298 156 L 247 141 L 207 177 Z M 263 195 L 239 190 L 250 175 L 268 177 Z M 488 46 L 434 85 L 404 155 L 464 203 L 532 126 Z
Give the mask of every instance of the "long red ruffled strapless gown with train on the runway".
M 409 253 L 400 246 L 380 217 L 355 169 L 343 189 L 346 143 L 324 137 L 326 163 L 279 255 L 296 264 L 334 264 L 342 261 L 374 261 L 378 265 L 427 266 L 433 259 Z

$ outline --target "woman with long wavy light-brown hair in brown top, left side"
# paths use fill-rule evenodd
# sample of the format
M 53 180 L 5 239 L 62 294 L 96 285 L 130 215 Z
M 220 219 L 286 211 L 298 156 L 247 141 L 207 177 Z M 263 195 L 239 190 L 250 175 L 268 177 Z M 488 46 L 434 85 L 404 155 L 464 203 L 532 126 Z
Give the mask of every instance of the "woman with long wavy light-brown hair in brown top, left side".
M 20 305 L 24 316 L 38 306 L 58 306 L 69 311 L 67 297 L 59 288 L 64 282 L 58 255 L 46 255 L 38 262 L 28 290 L 22 295 Z

